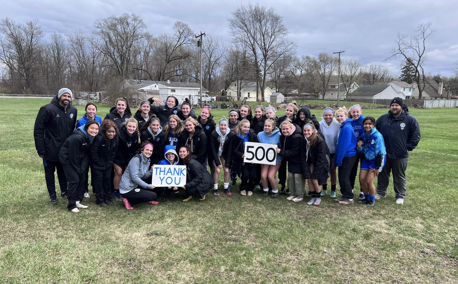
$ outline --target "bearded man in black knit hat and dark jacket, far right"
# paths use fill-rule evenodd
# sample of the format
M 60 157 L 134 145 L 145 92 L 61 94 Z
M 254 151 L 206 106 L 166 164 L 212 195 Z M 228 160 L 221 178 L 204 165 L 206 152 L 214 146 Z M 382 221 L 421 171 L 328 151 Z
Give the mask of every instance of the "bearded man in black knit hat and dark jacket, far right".
M 385 167 L 377 177 L 377 194 L 375 199 L 385 197 L 393 174 L 396 203 L 403 204 L 407 192 L 405 170 L 409 160 L 409 151 L 417 147 L 420 141 L 420 126 L 402 98 L 393 98 L 390 110 L 376 121 L 376 129 L 382 134 L 387 149 Z

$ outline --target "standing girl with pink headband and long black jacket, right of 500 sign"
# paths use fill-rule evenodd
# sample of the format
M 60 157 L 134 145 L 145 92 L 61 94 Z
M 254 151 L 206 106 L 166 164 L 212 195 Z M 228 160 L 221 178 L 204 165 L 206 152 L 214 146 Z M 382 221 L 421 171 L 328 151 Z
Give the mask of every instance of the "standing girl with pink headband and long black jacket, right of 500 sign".
M 329 149 L 322 137 L 316 133 L 315 126 L 307 123 L 303 129 L 302 140 L 302 169 L 304 178 L 308 179 L 311 199 L 307 205 L 320 205 L 321 185 L 331 176 L 331 161 Z

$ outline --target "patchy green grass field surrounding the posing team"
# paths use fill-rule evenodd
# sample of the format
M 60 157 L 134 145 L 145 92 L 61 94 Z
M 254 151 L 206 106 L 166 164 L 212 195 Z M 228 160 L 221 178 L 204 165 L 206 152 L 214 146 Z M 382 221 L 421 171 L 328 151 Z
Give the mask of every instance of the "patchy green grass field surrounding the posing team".
M 91 195 L 89 208 L 74 214 L 63 199 L 48 203 L 33 143 L 47 102 L 0 101 L 2 284 L 457 283 L 458 109 L 411 110 L 421 141 L 401 206 L 390 185 L 374 208 L 341 206 L 329 195 L 311 207 L 255 193 L 127 211 L 121 202 L 99 208 Z

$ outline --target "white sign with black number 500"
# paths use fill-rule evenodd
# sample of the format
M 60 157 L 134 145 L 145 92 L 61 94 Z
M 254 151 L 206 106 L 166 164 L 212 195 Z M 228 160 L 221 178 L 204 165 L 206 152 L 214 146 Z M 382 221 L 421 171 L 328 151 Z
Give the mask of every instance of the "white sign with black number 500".
M 245 158 L 243 161 L 255 164 L 277 164 L 277 145 L 245 142 Z

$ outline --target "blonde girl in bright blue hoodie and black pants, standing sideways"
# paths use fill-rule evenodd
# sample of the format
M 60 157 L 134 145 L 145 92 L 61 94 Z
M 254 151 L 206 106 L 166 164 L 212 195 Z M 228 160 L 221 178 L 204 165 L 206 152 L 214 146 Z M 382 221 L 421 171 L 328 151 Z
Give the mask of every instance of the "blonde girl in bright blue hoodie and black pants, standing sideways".
M 343 116 L 342 114 L 345 113 Z M 340 204 L 353 204 L 353 191 L 350 183 L 350 171 L 356 160 L 356 135 L 354 134 L 351 118 L 347 118 L 347 109 L 345 107 L 338 109 L 338 120 L 343 120 L 340 126 L 339 135 L 336 145 L 336 154 L 334 156 L 334 165 L 338 167 L 338 179 L 340 193 L 342 197 L 335 199 Z

